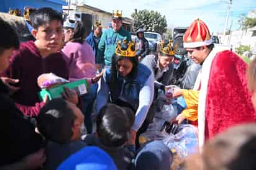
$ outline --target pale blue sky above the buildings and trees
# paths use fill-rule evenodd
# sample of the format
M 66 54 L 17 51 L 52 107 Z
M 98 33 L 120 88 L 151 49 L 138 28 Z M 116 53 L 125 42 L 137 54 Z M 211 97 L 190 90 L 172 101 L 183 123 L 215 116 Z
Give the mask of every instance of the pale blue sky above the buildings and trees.
M 104 11 L 122 10 L 126 17 L 130 17 L 135 8 L 158 11 L 165 15 L 169 27 L 188 26 L 194 19 L 199 18 L 206 22 L 211 32 L 223 32 L 228 8 L 228 0 L 84 0 L 84 2 Z M 238 29 L 239 16 L 247 15 L 251 9 L 256 9 L 256 0 L 233 0 L 229 27 L 232 20 L 232 30 Z

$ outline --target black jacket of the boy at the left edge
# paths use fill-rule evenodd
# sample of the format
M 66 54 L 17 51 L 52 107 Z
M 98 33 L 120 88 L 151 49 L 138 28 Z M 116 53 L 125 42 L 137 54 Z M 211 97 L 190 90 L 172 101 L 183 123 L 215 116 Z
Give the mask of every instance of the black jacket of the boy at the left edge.
M 40 135 L 35 133 L 35 127 L 23 117 L 8 92 L 9 89 L 0 79 L 0 166 L 14 163 L 38 151 L 43 143 Z

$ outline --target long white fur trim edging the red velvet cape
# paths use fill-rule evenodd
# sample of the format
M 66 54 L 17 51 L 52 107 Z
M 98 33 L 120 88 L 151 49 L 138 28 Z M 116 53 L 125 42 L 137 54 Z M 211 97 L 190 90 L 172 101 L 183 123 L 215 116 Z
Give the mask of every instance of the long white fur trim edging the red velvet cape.
M 198 101 L 198 138 L 200 151 L 202 151 L 204 145 L 206 96 L 208 93 L 208 81 L 211 71 L 211 64 L 216 54 L 224 50 L 229 50 L 229 48 L 214 46 L 211 53 L 209 53 L 206 60 L 204 60 L 203 66 L 199 71 L 198 78 L 196 78 L 196 83 L 194 84 L 194 89 L 198 90 L 201 82 Z

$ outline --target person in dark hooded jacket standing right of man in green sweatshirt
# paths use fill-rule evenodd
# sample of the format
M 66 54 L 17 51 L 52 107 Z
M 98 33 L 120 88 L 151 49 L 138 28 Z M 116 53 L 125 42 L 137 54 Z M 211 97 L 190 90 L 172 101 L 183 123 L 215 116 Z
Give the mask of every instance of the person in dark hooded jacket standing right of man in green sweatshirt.
M 149 55 L 149 41 L 144 37 L 144 29 L 138 29 L 136 35 L 136 55 L 139 60 L 142 60 L 146 55 Z

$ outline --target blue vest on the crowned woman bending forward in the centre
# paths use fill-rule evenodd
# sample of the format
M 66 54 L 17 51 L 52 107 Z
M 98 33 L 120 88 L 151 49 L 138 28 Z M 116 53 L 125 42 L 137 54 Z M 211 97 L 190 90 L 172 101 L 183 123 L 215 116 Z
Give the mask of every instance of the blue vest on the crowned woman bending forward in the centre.
M 147 68 L 147 66 L 139 63 L 135 79 L 124 79 L 119 77 L 117 78 L 119 88 L 113 89 L 111 88 L 110 84 L 111 69 L 106 69 L 106 83 L 109 86 L 111 102 L 120 99 L 121 101 L 129 103 L 132 105 L 132 107 L 134 107 L 135 110 L 137 110 L 139 107 L 140 89 L 144 87 L 144 84 L 149 78 L 150 74 L 152 74 L 150 69 Z

